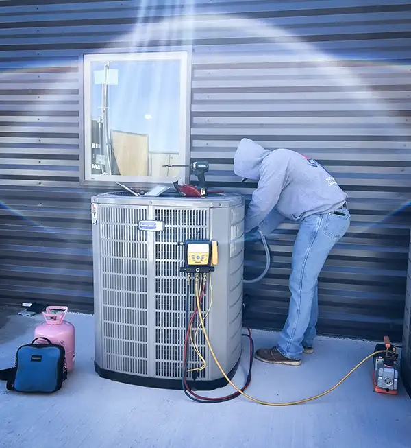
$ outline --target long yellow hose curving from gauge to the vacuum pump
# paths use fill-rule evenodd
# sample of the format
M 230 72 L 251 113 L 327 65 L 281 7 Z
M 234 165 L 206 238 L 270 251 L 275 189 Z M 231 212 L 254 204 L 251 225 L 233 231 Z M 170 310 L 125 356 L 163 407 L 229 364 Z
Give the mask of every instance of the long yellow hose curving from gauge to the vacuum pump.
M 211 274 L 210 275 L 210 285 L 211 285 Z M 324 397 L 324 395 L 329 394 L 329 392 L 332 392 L 334 389 L 338 388 L 338 386 L 340 386 L 340 384 L 343 383 L 343 381 L 345 381 L 349 375 L 351 375 L 351 373 L 353 373 L 355 370 L 358 369 L 358 367 L 360 367 L 362 364 L 364 364 L 364 362 L 366 362 L 368 359 L 370 359 L 371 357 L 373 357 L 374 355 L 377 355 L 378 353 L 386 353 L 385 350 L 379 350 L 379 351 L 375 351 L 374 353 L 371 353 L 371 355 L 368 355 L 367 357 L 364 357 L 364 359 L 362 359 L 361 362 L 359 362 L 352 370 L 349 371 L 349 373 L 347 373 L 347 375 L 345 375 L 345 377 L 343 377 L 343 379 L 341 379 L 340 381 L 338 381 L 338 383 L 333 386 L 332 388 L 326 390 L 325 392 L 318 394 L 318 395 L 314 395 L 314 397 L 309 397 L 306 399 L 302 399 L 302 400 L 297 400 L 297 401 L 290 401 L 288 403 L 270 403 L 269 401 L 262 401 L 253 397 L 250 397 L 248 394 L 246 394 L 245 392 L 242 392 L 242 390 L 240 390 L 232 381 L 231 379 L 229 379 L 229 377 L 227 377 L 227 374 L 225 373 L 225 371 L 223 370 L 223 368 L 221 367 L 218 359 L 216 358 L 216 355 L 212 349 L 212 346 L 210 344 L 210 340 L 208 339 L 208 333 L 206 330 L 206 326 L 204 325 L 204 318 L 203 318 L 203 314 L 201 312 L 201 303 L 200 303 L 200 292 L 197 289 L 197 287 L 195 288 L 195 298 L 197 300 L 197 309 L 199 311 L 199 318 L 200 318 L 200 322 L 201 322 L 201 327 L 203 329 L 203 333 L 204 333 L 204 338 L 206 338 L 206 342 L 208 345 L 208 349 L 210 349 L 210 353 L 212 354 L 212 357 L 214 358 L 214 361 L 216 362 L 217 366 L 219 367 L 221 373 L 223 374 L 223 376 L 225 377 L 225 379 L 227 379 L 227 381 L 229 382 L 229 384 L 231 384 L 233 386 L 234 389 L 237 390 L 237 392 L 240 392 L 240 394 L 244 395 L 244 397 L 248 398 L 251 401 L 254 401 L 255 403 L 258 403 L 260 405 L 266 405 L 266 406 L 292 406 L 292 405 L 297 405 L 297 404 L 302 404 L 302 403 L 307 403 L 308 401 L 312 401 L 321 397 Z M 212 300 L 212 289 L 210 288 L 210 300 Z

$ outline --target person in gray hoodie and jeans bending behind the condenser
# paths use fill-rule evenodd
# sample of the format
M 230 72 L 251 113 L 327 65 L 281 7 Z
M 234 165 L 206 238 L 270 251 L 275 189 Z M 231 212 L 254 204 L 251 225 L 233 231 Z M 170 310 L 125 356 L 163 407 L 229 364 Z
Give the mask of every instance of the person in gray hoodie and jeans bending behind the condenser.
M 258 181 L 245 233 L 258 228 L 269 235 L 286 218 L 300 224 L 292 251 L 288 318 L 277 344 L 256 351 L 260 361 L 299 366 L 302 353 L 314 351 L 319 274 L 351 221 L 347 194 L 312 158 L 287 149 L 266 150 L 249 139 L 238 145 L 234 173 L 243 181 Z

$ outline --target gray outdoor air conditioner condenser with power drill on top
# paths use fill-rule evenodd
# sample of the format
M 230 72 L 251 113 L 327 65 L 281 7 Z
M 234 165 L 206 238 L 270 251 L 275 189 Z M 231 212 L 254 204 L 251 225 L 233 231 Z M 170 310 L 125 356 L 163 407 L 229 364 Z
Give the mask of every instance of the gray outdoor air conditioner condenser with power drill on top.
M 97 373 L 131 384 L 182 388 L 184 241 L 212 239 L 219 244 L 219 262 L 202 309 L 205 314 L 212 292 L 206 328 L 221 366 L 234 376 L 242 351 L 242 196 L 149 197 L 121 191 L 94 196 L 91 207 Z M 190 304 L 192 311 L 194 294 Z M 207 366 L 193 382 L 188 373 L 188 384 L 198 390 L 225 386 L 201 329 L 197 342 Z M 191 347 L 188 370 L 201 364 Z

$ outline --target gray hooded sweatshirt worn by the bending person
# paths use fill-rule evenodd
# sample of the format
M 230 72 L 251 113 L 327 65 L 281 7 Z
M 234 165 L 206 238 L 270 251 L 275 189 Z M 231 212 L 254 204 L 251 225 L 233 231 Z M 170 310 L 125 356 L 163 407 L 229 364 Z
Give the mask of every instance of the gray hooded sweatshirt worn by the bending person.
M 245 232 L 259 226 L 268 234 L 285 218 L 301 222 L 315 213 L 335 211 L 347 200 L 334 177 L 312 158 L 283 148 L 266 150 L 249 139 L 238 145 L 234 173 L 258 180 L 245 217 Z

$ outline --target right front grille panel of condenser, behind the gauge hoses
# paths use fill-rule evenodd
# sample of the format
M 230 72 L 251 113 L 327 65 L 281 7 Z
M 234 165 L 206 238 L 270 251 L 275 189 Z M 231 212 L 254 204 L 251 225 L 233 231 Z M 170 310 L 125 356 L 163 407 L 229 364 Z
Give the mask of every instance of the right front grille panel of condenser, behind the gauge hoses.
M 158 207 L 155 220 L 165 223 L 164 232 L 155 233 L 155 375 L 178 379 L 182 377 L 187 292 L 186 274 L 179 272 L 184 260 L 182 244 L 186 239 L 208 238 L 208 210 Z M 194 311 L 194 294 L 190 294 L 190 305 L 190 311 Z M 204 312 L 208 309 L 208 294 L 204 295 L 202 309 Z M 193 328 L 198 325 L 196 316 Z M 206 358 L 201 329 L 197 333 L 197 346 Z M 192 346 L 190 360 L 188 369 L 202 364 Z M 199 370 L 199 378 L 205 376 L 206 369 Z

